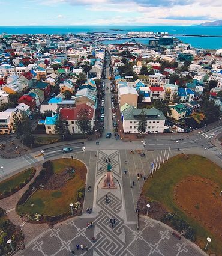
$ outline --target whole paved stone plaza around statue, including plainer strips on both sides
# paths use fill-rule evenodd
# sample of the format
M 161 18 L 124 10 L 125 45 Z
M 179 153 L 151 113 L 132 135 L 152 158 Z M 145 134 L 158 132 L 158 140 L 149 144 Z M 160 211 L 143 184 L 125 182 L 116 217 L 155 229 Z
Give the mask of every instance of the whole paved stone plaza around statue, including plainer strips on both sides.
M 137 172 L 140 169 L 140 172 L 147 177 L 151 160 L 155 157 L 154 153 L 148 154 L 144 159 L 141 159 L 139 154 L 129 155 L 125 150 L 97 151 L 90 153 L 90 156 L 86 154 L 87 152 L 79 154 L 78 158 L 87 159 L 89 173 L 86 186 L 89 185 L 88 181 L 95 181 L 95 186 L 94 191 L 86 192 L 84 209 L 92 206 L 93 213 L 91 215 L 84 213 L 81 217 L 56 224 L 52 230 L 29 242 L 26 249 L 18 252 L 17 255 L 65 256 L 72 255 L 73 249 L 76 255 L 94 256 L 205 255 L 188 240 L 184 238 L 178 240 L 172 236 L 171 228 L 146 216 L 140 217 L 140 229 L 137 230 L 135 207 L 143 184 L 142 180 L 136 181 Z M 115 189 L 102 188 L 107 166 L 104 159 L 108 157 L 112 164 Z M 126 158 L 127 165 L 124 162 Z M 127 175 L 123 174 L 124 169 L 127 169 Z M 133 180 L 136 184 L 131 189 Z M 106 195 L 109 203 L 106 203 Z M 113 228 L 110 218 L 116 219 Z M 91 221 L 93 227 L 87 228 L 87 222 Z M 95 242 L 92 241 L 92 237 L 95 237 Z M 88 251 L 77 250 L 77 244 L 88 246 Z

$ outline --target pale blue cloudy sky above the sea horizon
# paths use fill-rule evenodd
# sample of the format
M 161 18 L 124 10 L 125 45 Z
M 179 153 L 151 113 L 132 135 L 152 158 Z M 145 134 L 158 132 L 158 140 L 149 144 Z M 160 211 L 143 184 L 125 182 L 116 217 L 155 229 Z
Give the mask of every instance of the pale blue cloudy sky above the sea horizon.
M 198 25 L 221 0 L 0 0 L 0 26 Z

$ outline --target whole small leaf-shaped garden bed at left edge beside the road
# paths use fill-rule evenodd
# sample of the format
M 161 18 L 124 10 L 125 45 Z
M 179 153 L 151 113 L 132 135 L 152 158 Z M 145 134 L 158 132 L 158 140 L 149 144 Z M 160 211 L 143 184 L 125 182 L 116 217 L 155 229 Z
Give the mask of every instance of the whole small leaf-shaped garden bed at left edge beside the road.
M 35 169 L 29 168 L 19 172 L 0 183 L 0 199 L 13 195 L 18 190 L 22 189 L 35 175 Z

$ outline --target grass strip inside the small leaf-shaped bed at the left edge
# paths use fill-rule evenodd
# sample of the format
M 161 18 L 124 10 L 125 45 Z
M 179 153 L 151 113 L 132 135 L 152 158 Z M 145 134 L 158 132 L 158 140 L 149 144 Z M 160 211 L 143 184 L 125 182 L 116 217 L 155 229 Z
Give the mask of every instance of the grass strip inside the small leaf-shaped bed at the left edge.
M 24 182 L 26 178 L 29 177 L 29 175 L 34 171 L 34 168 L 26 169 L 23 172 L 19 172 L 19 174 L 13 175 L 10 178 L 7 178 L 7 180 L 4 180 L 0 183 L 0 194 L 4 190 L 7 190 L 8 192 L 11 190 L 11 188 L 16 188 L 19 186 L 20 182 Z

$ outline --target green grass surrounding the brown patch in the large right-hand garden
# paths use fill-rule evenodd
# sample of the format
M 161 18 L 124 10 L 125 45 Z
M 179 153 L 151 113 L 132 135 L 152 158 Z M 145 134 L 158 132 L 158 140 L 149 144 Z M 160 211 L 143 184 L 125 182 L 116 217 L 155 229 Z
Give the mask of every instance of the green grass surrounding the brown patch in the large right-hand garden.
M 189 156 L 188 159 L 186 159 L 183 155 L 179 155 L 172 157 L 167 164 L 162 166 L 160 170 L 154 174 L 153 178 L 149 178 L 149 180 L 146 181 L 142 191 L 143 195 L 151 200 L 160 202 L 169 212 L 176 213 L 179 217 L 187 221 L 196 231 L 196 243 L 200 248 L 203 249 L 205 247 L 206 237 L 211 237 L 212 242 L 209 244 L 209 249 L 217 253 L 217 255 L 221 255 L 221 237 L 217 236 L 217 233 L 212 232 L 203 225 L 201 220 L 197 221 L 199 216 L 193 218 L 191 215 L 187 215 L 174 200 L 173 191 L 176 189 L 177 184 L 187 177 L 206 178 L 217 184 L 218 192 L 222 190 L 222 171 L 219 166 L 205 157 Z M 190 183 L 187 183 L 187 185 L 190 185 Z M 202 191 L 200 190 L 199 193 L 202 193 Z M 193 195 L 188 195 L 188 198 L 192 198 L 192 196 Z M 216 199 L 220 201 L 219 196 L 217 196 Z M 204 204 L 204 201 L 200 203 Z M 209 206 L 208 211 L 211 211 L 210 208 Z M 190 211 L 191 209 L 189 209 L 189 212 Z M 220 230 L 220 227 L 213 228 Z

